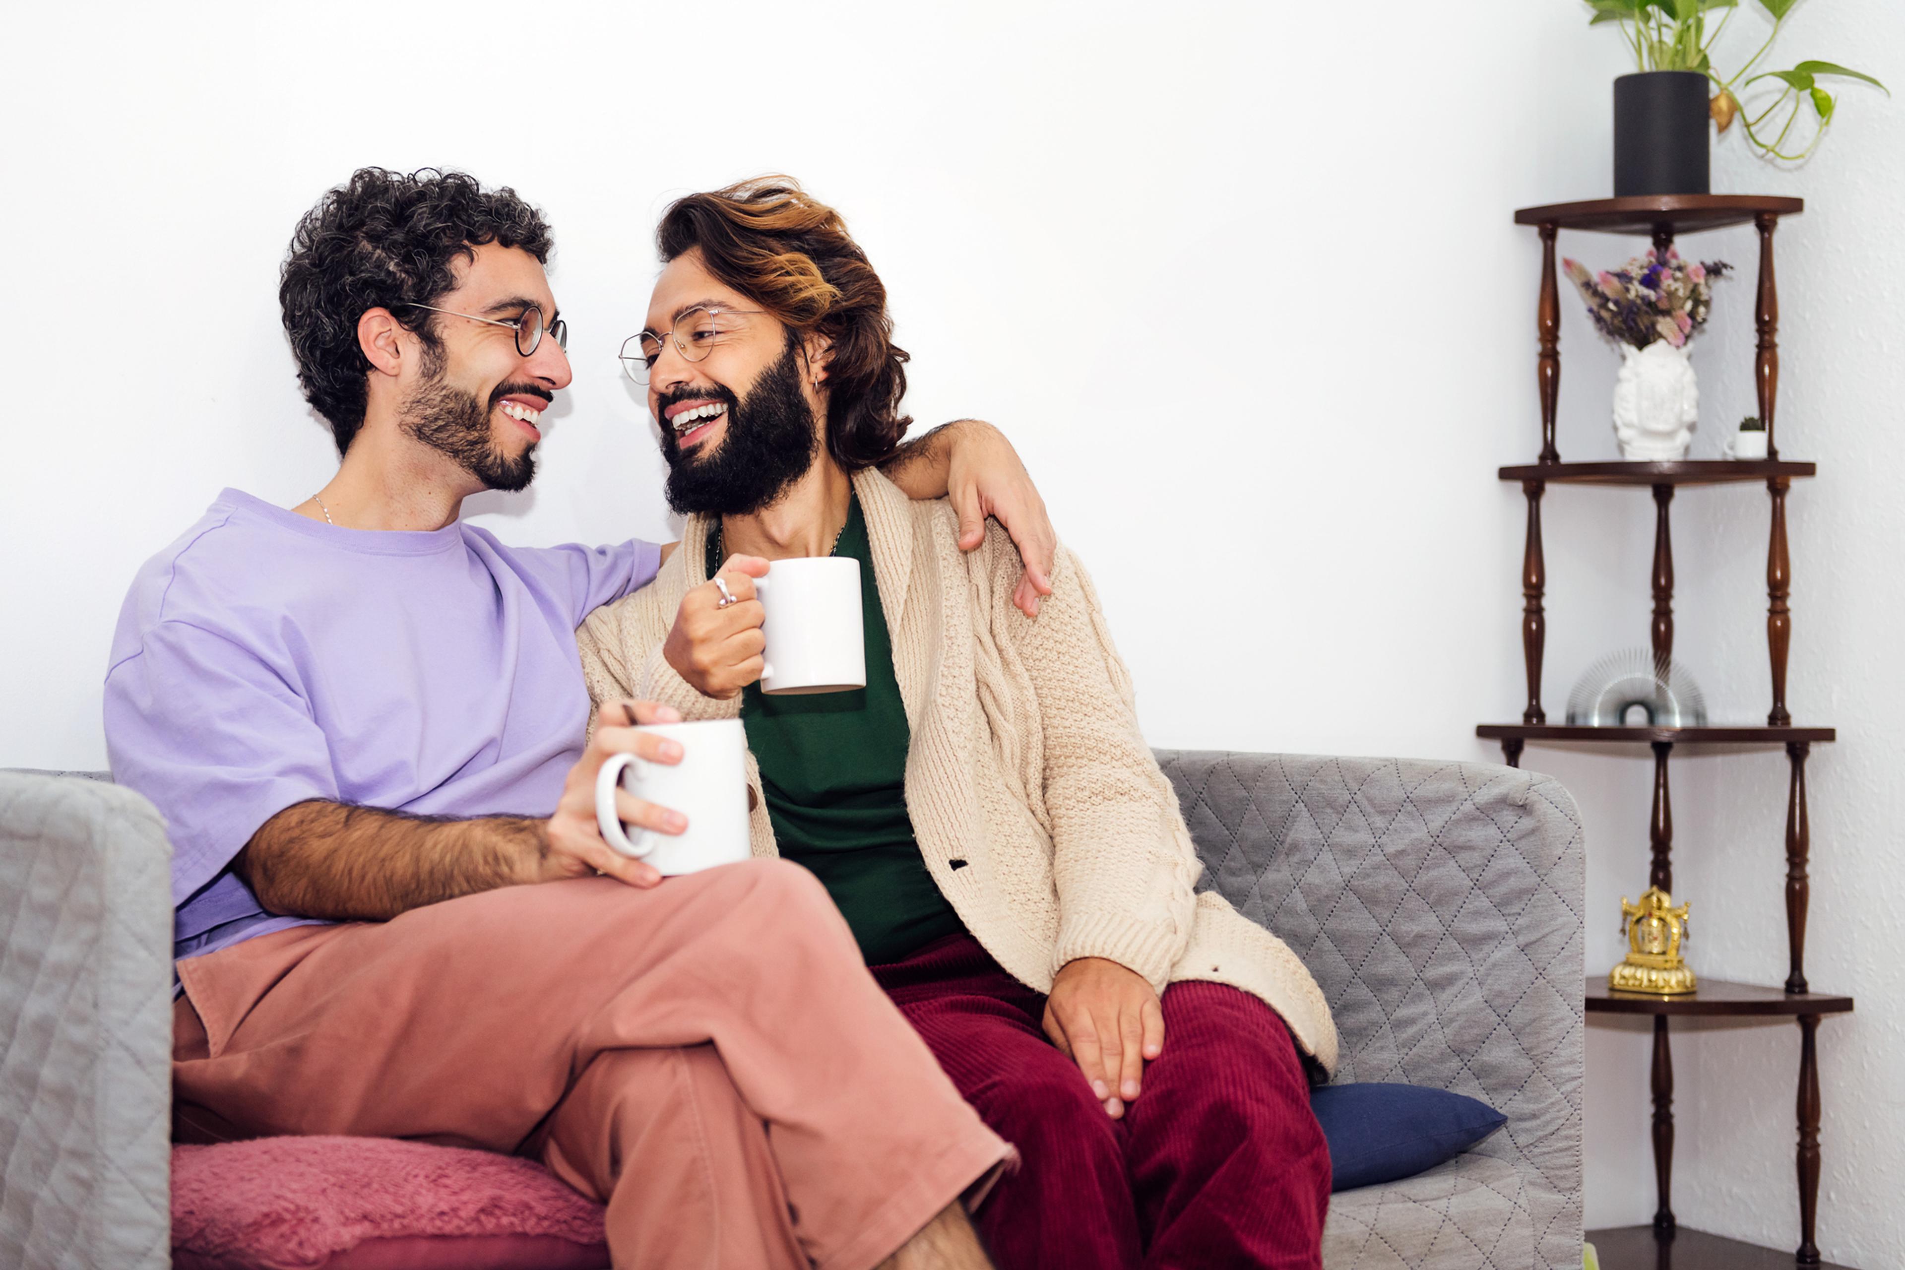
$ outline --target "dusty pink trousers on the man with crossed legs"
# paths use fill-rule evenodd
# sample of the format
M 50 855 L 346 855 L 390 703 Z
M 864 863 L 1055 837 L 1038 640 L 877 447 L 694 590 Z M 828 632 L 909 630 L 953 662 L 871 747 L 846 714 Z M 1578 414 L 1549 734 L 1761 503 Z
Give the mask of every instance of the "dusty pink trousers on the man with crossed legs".
M 545 1161 L 615 1266 L 865 1270 L 1012 1156 L 810 872 L 507 887 L 179 963 L 175 1135 Z

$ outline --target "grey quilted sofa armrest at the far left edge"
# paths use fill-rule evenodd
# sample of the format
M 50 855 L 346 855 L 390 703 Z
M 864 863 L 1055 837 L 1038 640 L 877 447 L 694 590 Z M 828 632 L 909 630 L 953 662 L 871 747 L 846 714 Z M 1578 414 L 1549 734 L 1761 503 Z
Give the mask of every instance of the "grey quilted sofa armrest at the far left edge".
M 0 1264 L 171 1264 L 170 872 L 145 798 L 0 771 Z

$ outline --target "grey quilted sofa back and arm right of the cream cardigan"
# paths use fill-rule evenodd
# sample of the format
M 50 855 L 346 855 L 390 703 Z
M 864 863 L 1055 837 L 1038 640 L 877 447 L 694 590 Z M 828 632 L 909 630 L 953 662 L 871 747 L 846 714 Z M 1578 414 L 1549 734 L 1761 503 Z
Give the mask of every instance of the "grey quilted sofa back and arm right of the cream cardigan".
M 1543 1264 L 1581 1260 L 1581 817 L 1490 764 L 1160 752 L 1221 891 L 1309 965 L 1339 1081 L 1480 1099 L 1476 1150 L 1537 1181 Z

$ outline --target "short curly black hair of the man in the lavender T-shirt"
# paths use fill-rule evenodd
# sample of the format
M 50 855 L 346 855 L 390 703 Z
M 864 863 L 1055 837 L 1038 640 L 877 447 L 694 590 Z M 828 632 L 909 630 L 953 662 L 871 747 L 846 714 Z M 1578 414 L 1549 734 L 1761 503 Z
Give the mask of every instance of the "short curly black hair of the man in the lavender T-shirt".
M 370 308 L 389 308 L 425 348 L 442 350 L 434 305 L 455 286 L 451 267 L 484 244 L 522 248 L 549 263 L 543 213 L 503 187 L 484 190 L 461 171 L 423 168 L 410 175 L 358 168 L 305 213 L 291 234 L 278 280 L 284 333 L 297 358 L 297 383 L 351 449 L 364 427 L 371 366 L 356 341 Z

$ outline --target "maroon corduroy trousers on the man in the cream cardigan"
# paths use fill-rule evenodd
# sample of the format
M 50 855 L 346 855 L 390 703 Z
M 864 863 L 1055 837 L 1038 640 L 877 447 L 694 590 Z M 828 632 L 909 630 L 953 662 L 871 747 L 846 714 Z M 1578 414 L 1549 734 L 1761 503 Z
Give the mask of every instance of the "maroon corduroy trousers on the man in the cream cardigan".
M 1316 1270 L 1330 1148 L 1276 1011 L 1164 992 L 1164 1053 L 1122 1120 L 1044 1034 L 1046 998 L 970 935 L 872 967 L 1021 1167 L 979 1209 L 998 1270 Z

